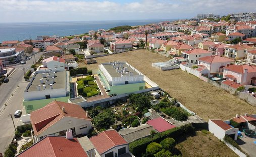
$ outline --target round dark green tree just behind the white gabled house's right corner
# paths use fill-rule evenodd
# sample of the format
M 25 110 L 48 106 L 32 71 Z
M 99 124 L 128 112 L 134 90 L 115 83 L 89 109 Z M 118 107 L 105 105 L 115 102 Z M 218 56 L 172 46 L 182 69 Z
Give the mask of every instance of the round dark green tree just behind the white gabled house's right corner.
M 115 123 L 114 114 L 111 110 L 104 110 L 92 119 L 94 127 L 97 130 L 109 129 Z

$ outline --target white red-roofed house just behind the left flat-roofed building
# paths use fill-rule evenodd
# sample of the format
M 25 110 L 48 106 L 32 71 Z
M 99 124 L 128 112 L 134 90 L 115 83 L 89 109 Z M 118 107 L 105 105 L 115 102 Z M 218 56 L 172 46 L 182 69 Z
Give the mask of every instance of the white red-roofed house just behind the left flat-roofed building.
M 65 69 L 65 59 L 60 57 L 50 57 L 42 61 L 43 67 L 48 69 L 64 70 Z

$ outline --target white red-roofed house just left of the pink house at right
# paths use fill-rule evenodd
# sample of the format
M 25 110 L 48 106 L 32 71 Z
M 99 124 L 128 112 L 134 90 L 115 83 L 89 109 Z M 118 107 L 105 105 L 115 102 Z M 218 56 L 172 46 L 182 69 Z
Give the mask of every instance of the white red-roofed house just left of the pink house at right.
M 207 68 L 208 74 L 223 72 L 223 67 L 230 65 L 233 60 L 219 55 L 211 55 L 198 59 L 198 66 L 202 65 Z

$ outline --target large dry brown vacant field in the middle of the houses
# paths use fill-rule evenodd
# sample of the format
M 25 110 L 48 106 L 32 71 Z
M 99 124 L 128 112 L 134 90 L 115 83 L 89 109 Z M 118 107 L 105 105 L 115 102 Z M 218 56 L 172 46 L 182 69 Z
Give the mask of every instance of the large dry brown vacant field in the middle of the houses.
M 236 114 L 256 113 L 256 107 L 180 69 L 161 71 L 153 68 L 152 63 L 169 60 L 156 53 L 136 50 L 100 57 L 96 60 L 98 64 L 84 65 L 80 62 L 80 67 L 86 66 L 93 70 L 97 69 L 100 63 L 126 61 L 204 120 L 227 120 L 235 117 Z

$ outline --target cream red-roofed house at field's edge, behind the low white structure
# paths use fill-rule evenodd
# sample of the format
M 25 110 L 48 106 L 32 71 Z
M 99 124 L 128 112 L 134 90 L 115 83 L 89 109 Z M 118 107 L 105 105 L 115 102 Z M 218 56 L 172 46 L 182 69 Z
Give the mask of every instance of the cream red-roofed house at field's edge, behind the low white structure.
M 182 51 L 181 53 L 182 53 L 182 57 L 184 59 L 188 59 L 188 62 L 192 63 L 192 64 L 197 64 L 199 58 L 212 55 L 212 52 L 209 52 L 209 51 L 203 50 L 203 49 L 199 49 L 199 48 Z

